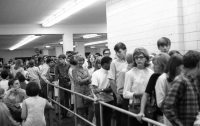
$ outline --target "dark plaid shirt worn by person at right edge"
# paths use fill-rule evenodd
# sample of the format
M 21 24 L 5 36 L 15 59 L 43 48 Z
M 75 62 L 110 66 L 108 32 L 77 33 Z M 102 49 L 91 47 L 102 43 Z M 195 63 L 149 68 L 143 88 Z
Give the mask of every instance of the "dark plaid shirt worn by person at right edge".
M 174 126 L 193 126 L 199 111 L 197 83 L 184 75 L 179 75 L 172 83 L 163 103 L 163 112 Z

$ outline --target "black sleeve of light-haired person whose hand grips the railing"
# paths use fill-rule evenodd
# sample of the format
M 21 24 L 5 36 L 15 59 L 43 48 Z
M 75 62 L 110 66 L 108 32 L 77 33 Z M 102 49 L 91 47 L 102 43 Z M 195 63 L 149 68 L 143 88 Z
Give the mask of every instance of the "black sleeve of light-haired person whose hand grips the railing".
M 157 76 L 156 74 L 152 74 L 150 79 L 149 79 L 149 82 L 147 84 L 147 87 L 146 87 L 146 90 L 145 90 L 145 93 L 151 95 L 154 88 L 155 88 L 155 85 L 156 85 L 156 80 L 157 80 Z

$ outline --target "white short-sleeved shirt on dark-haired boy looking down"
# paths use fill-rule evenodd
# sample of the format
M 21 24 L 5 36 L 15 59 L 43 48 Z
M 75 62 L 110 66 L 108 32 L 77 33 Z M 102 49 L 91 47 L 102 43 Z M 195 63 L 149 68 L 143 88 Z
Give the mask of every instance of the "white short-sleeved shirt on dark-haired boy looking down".
M 97 86 L 99 89 L 105 89 L 110 86 L 108 79 L 108 71 L 101 68 L 92 74 L 92 85 Z

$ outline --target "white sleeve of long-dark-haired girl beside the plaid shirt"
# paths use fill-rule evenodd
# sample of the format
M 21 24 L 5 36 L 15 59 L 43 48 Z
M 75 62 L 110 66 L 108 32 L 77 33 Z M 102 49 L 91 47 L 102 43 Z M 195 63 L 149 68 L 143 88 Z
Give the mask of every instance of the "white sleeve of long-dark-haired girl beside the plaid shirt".
M 158 78 L 157 82 L 156 82 L 156 86 L 155 86 L 155 90 L 156 90 L 156 101 L 157 101 L 157 105 L 160 108 L 162 106 L 163 100 L 165 99 L 166 96 L 166 78 L 163 78 L 162 75 Z

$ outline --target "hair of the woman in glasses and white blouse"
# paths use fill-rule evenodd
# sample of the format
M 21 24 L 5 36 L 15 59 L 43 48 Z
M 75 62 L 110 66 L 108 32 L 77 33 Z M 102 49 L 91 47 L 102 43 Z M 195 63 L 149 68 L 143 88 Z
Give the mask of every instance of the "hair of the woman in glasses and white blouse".
M 137 64 L 136 64 L 136 62 L 135 62 L 135 56 L 140 55 L 140 54 L 143 54 L 144 57 L 146 58 L 147 62 L 145 62 L 145 67 L 148 67 L 148 66 L 150 65 L 150 63 L 149 63 L 149 53 L 148 53 L 148 51 L 147 51 L 145 48 L 143 48 L 143 47 L 136 48 L 136 49 L 134 50 L 134 52 L 133 52 L 133 66 L 134 66 L 134 67 L 137 67 Z

